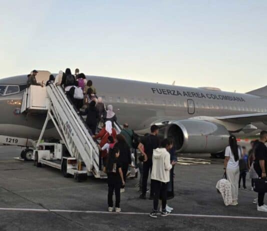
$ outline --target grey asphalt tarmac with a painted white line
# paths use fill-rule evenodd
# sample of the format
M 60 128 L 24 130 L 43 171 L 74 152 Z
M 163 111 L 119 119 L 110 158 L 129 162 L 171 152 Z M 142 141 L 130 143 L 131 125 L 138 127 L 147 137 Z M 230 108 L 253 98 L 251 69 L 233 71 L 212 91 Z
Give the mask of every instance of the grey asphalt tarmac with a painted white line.
M 108 213 L 105 180 L 64 178 L 57 169 L 14 160 L 20 151 L 0 146 L 0 230 L 262 230 L 267 225 L 267 213 L 256 210 L 251 190 L 239 190 L 237 206 L 223 204 L 215 189 L 222 159 L 181 156 L 174 169 L 175 197 L 168 201 L 173 213 L 153 219 L 152 200 L 138 198 L 138 179 L 126 181 L 122 212 Z M 246 184 L 250 188 L 248 176 Z

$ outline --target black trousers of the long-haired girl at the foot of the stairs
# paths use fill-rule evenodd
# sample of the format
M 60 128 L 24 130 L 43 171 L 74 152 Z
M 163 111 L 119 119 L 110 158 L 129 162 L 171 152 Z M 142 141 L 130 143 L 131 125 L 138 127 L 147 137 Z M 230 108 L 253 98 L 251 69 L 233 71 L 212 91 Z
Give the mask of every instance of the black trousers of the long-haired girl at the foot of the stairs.
M 112 197 L 114 191 L 115 191 L 115 207 L 119 207 L 121 181 L 118 179 L 118 176 L 107 175 L 107 186 L 108 186 L 108 193 L 107 193 L 108 207 L 113 207 Z

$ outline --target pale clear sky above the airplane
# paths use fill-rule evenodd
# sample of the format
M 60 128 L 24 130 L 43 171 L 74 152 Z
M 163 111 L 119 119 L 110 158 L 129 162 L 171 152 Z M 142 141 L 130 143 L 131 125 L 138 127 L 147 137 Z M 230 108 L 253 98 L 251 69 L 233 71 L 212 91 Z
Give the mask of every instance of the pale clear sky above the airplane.
M 267 0 L 0 0 L 0 77 L 89 75 L 247 92 L 267 85 Z

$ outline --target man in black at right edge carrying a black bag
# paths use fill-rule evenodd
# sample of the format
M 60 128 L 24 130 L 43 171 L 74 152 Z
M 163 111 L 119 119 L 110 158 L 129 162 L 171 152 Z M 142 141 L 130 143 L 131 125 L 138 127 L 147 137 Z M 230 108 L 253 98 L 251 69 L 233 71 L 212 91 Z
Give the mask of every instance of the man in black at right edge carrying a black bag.
M 265 142 L 267 141 L 267 131 L 261 131 L 259 135 L 259 142 L 255 144 L 255 161 L 254 161 L 254 169 L 258 174 L 258 177 L 266 178 L 266 169 L 267 169 L 267 147 L 265 146 Z M 267 212 L 267 206 L 264 205 L 264 192 L 258 193 L 258 204 L 257 210 Z

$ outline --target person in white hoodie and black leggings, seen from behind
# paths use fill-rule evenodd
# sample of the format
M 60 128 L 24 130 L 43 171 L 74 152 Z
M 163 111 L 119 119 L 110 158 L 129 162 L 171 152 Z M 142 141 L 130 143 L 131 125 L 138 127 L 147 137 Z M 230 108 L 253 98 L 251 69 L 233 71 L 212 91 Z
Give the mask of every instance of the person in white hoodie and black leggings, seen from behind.
M 168 150 L 171 148 L 171 143 L 168 139 L 163 139 L 161 147 L 153 150 L 152 155 L 152 171 L 151 171 L 151 183 L 153 185 L 153 210 L 149 216 L 152 218 L 157 217 L 158 213 L 158 200 L 159 196 L 162 201 L 161 216 L 166 216 L 169 212 L 166 211 L 167 203 L 167 182 L 169 181 L 169 170 L 175 164 L 175 161 L 170 163 L 170 155 Z

